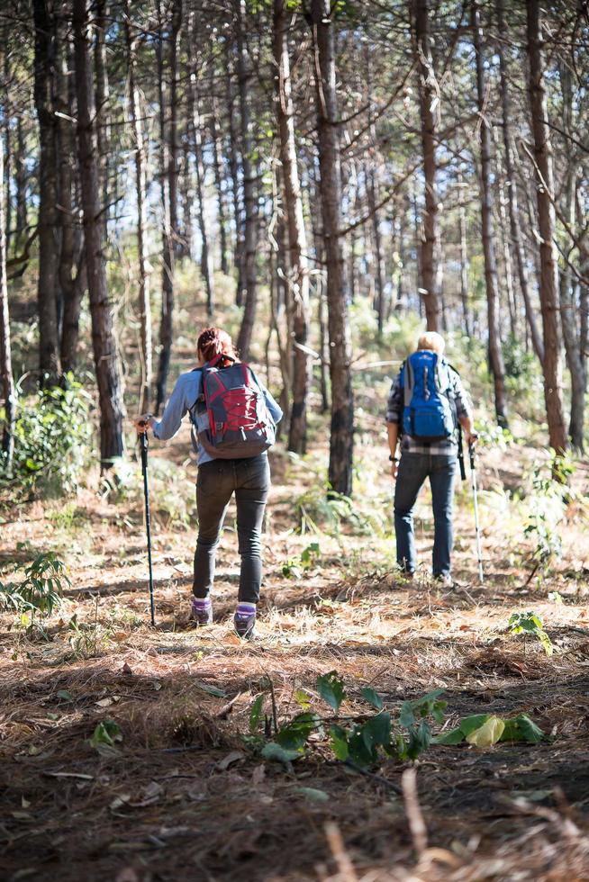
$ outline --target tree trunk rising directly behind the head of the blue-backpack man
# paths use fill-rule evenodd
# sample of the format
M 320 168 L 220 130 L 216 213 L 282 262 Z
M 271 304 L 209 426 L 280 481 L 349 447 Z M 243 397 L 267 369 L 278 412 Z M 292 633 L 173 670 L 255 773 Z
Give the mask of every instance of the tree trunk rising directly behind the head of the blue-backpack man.
M 438 194 L 436 192 L 436 106 L 439 103 L 436 75 L 430 48 L 430 0 L 415 0 L 415 46 L 419 72 L 421 148 L 425 178 L 425 211 L 421 236 L 421 299 L 428 330 L 439 330 L 440 303 L 436 290 L 435 250 L 438 238 Z

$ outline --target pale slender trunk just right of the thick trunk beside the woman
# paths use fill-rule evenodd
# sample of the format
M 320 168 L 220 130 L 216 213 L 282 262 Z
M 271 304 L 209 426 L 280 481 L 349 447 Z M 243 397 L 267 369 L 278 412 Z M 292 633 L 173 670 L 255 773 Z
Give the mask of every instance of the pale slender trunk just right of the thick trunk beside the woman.
M 131 115 L 131 138 L 135 172 L 135 199 L 137 200 L 137 262 L 139 269 L 137 302 L 140 317 L 140 413 L 150 410 L 151 379 L 153 374 L 151 340 L 150 277 L 146 266 L 145 229 L 147 225 L 147 156 L 141 122 L 140 95 L 135 80 L 137 64 L 137 35 L 132 30 L 130 0 L 124 0 L 125 40 L 127 45 L 127 68 L 129 70 L 129 112 Z

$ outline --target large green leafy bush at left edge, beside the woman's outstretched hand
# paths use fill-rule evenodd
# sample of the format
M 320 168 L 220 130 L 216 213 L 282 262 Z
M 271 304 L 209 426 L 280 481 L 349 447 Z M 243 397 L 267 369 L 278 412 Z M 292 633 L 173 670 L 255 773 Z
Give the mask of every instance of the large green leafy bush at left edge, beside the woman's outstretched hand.
M 0 487 L 19 488 L 36 497 L 59 497 L 77 490 L 92 434 L 90 396 L 71 374 L 64 388 L 43 389 L 18 401 L 14 459 L 8 470 L 0 453 Z M 4 414 L 0 412 L 0 419 Z

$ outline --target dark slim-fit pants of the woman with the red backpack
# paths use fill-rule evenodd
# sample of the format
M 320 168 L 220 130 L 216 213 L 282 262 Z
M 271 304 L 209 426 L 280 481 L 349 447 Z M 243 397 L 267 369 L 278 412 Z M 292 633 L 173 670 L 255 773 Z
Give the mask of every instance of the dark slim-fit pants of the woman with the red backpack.
M 237 536 L 241 557 L 238 600 L 257 603 L 262 581 L 261 533 L 270 467 L 267 455 L 249 459 L 215 459 L 198 467 L 196 510 L 198 539 L 193 594 L 206 598 L 213 588 L 214 563 L 225 512 L 235 493 Z

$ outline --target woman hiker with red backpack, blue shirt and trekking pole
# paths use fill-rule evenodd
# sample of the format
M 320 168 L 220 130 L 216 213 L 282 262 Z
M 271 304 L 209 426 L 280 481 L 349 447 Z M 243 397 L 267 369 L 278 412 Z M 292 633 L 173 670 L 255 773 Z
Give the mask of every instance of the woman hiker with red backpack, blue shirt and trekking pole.
M 143 414 L 134 421 L 138 434 L 151 428 L 168 441 L 190 414 L 197 452 L 195 551 L 191 618 L 197 625 L 213 622 L 211 590 L 223 519 L 231 496 L 237 505 L 241 557 L 235 631 L 250 639 L 262 577 L 261 529 L 270 489 L 267 448 L 274 442 L 282 410 L 248 365 L 240 362 L 229 334 L 205 329 L 196 344 L 198 367 L 181 374 L 162 418 Z

